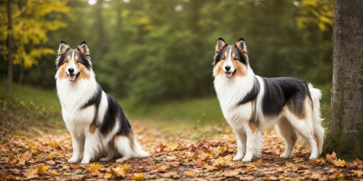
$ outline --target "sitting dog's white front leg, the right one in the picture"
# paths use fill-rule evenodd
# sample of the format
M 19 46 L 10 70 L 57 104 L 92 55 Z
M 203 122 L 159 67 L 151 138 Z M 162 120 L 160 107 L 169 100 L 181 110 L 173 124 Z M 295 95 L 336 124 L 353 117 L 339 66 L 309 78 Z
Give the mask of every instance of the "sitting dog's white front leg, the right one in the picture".
M 83 153 L 83 159 L 81 164 L 89 164 L 91 159 L 94 159 L 96 153 L 98 152 L 99 140 L 95 134 L 87 135 L 85 140 L 85 150 Z

